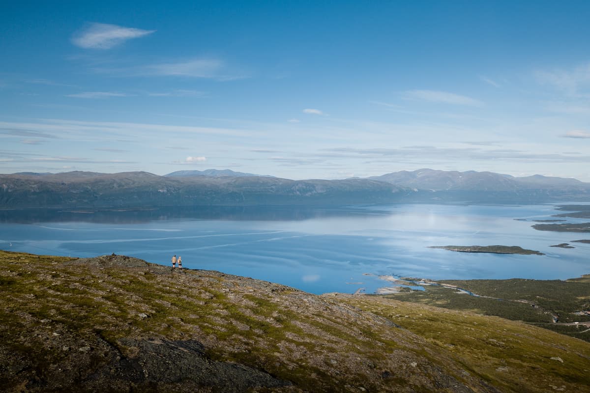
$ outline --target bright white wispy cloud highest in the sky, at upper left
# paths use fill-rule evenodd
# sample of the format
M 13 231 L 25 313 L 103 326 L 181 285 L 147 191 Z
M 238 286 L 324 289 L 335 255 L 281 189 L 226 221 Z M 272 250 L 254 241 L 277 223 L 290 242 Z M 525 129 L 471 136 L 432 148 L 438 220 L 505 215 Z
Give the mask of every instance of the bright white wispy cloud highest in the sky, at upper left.
M 110 49 L 132 38 L 144 37 L 155 30 L 143 30 L 103 23 L 88 25 L 71 38 L 71 42 L 80 48 Z

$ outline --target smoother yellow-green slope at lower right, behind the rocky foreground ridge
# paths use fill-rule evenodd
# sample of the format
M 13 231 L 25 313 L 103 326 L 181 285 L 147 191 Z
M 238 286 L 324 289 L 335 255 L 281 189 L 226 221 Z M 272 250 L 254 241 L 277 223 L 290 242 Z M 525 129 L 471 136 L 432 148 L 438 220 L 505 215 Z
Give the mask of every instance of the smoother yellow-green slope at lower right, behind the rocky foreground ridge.
M 578 339 L 493 316 L 379 296 L 350 297 L 348 303 L 391 318 L 451 352 L 469 372 L 502 392 L 588 391 L 590 352 L 588 343 Z

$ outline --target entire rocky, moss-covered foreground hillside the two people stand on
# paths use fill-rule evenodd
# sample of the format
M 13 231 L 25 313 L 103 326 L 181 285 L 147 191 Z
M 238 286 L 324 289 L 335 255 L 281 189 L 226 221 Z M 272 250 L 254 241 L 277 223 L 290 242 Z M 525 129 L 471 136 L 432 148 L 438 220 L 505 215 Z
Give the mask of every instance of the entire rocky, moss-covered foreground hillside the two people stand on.
M 124 256 L 0 252 L 0 292 L 8 392 L 585 391 L 590 372 L 589 343 L 524 323 Z

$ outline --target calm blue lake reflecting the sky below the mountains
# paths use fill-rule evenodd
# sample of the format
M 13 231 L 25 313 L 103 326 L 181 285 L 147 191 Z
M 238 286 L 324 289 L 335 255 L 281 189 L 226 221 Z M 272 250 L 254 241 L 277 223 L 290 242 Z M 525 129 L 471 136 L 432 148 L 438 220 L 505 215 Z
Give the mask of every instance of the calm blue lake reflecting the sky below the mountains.
M 568 203 L 573 204 L 573 203 Z M 211 207 L 142 212 L 0 212 L 0 249 L 110 253 L 211 269 L 312 293 L 372 293 L 378 275 L 430 279 L 567 279 L 590 273 L 590 233 L 542 232 L 554 204 L 396 204 L 342 208 Z M 588 220 L 566 219 L 567 222 Z M 428 246 L 507 245 L 546 255 L 457 253 Z

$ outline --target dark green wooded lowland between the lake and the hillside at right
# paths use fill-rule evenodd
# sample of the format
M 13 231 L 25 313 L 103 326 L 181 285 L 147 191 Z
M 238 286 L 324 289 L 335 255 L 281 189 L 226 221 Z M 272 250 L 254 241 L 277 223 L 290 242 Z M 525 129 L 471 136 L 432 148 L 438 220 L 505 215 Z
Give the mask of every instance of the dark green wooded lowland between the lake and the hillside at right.
M 568 280 L 440 280 L 437 283 L 440 285 L 426 285 L 423 291 L 405 289 L 385 297 L 500 316 L 590 341 L 590 326 L 585 325 L 590 325 L 590 275 Z

